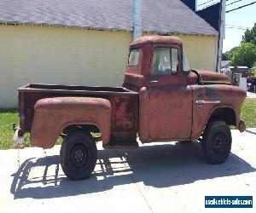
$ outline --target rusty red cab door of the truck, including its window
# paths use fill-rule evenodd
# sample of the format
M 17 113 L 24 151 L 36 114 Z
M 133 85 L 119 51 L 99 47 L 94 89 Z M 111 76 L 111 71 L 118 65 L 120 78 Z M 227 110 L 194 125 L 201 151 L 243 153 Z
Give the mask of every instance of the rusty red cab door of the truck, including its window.
M 153 55 L 148 78 L 149 141 L 189 140 L 192 89 L 188 73 L 182 72 L 182 49 L 153 44 Z

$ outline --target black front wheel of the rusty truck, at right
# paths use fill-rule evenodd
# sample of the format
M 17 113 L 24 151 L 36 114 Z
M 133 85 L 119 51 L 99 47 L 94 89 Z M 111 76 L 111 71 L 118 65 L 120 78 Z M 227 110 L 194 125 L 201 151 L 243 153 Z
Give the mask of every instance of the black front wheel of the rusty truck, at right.
M 230 155 L 232 136 L 224 121 L 207 124 L 202 136 L 202 148 L 210 164 L 223 164 Z

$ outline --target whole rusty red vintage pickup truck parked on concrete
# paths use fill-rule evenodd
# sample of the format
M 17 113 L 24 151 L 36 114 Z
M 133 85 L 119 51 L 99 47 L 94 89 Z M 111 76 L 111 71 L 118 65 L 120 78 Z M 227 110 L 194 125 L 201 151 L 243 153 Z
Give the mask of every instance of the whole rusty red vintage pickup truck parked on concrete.
M 246 129 L 245 98 L 224 74 L 189 69 L 179 38 L 140 37 L 131 43 L 122 87 L 21 87 L 14 143 L 24 147 L 30 132 L 32 146 L 47 149 L 62 136 L 61 167 L 72 180 L 95 169 L 96 141 L 137 148 L 137 135 L 142 143 L 199 140 L 207 161 L 221 164 L 230 154 L 230 125 Z

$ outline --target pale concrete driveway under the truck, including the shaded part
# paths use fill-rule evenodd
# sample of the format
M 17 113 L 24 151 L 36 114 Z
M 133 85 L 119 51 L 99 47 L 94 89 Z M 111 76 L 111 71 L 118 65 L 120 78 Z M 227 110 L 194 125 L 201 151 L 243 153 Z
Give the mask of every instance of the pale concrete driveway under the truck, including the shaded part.
M 155 143 L 134 151 L 102 150 L 99 143 L 96 172 L 84 181 L 69 181 L 63 175 L 60 146 L 46 152 L 0 151 L 0 209 L 198 212 L 206 211 L 205 195 L 253 195 L 253 209 L 243 212 L 256 212 L 256 130 L 232 130 L 232 135 L 232 153 L 220 165 L 207 164 L 197 142 Z

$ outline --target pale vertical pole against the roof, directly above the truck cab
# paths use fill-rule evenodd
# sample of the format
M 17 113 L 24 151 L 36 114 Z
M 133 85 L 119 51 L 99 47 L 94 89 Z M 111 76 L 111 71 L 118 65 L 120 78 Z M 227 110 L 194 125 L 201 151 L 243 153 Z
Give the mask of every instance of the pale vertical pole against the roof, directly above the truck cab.
M 143 34 L 143 3 L 142 0 L 133 0 L 133 40 L 141 37 Z

